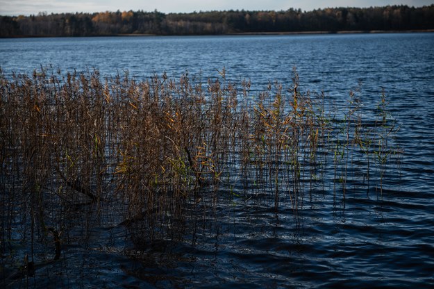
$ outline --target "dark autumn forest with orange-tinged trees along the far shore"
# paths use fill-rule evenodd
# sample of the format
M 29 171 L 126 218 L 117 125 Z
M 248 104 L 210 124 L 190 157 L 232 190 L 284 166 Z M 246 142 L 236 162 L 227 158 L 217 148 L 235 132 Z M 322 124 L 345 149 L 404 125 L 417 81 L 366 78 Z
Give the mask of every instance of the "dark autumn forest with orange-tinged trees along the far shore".
M 434 28 L 434 4 L 312 11 L 228 10 L 194 13 L 117 11 L 0 16 L 0 37 L 122 34 L 218 35 L 309 31 L 405 31 Z

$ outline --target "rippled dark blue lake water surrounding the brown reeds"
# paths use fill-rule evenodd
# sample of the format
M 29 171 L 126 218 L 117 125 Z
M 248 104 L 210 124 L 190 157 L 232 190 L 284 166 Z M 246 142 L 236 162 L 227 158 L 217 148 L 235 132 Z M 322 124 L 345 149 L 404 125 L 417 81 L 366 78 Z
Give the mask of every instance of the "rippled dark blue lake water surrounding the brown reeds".
M 222 192 L 182 241 L 137 247 L 108 225 L 85 242 L 69 232 L 58 263 L 11 287 L 433 288 L 433 47 L 433 33 L 0 40 L 6 74 L 52 65 L 206 79 L 225 67 L 228 79 L 251 79 L 254 93 L 269 81 L 289 86 L 297 67 L 303 90 L 324 90 L 337 105 L 360 90 L 372 106 L 384 89 L 402 150 L 401 174 L 388 176 L 382 194 L 374 183 L 336 199 L 324 185 L 296 215 L 289 197 L 276 212 L 272 201 Z

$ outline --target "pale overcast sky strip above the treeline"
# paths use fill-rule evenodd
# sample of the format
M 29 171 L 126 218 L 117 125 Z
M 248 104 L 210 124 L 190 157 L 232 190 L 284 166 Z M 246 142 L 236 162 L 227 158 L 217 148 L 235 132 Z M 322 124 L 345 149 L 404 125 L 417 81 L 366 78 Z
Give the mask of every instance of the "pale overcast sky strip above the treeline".
M 39 12 L 75 13 L 117 10 L 158 10 L 164 13 L 208 10 L 313 10 L 327 7 L 424 6 L 433 0 L 0 0 L 0 15 L 30 15 Z

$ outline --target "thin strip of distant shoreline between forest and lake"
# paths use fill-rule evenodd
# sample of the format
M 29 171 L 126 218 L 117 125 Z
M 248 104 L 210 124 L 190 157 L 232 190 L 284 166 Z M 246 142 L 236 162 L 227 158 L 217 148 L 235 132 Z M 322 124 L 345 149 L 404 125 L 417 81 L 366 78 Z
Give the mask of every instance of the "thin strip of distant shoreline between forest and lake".
M 318 34 L 380 34 L 380 33 L 433 33 L 434 29 L 420 30 L 372 30 L 372 31 L 281 31 L 281 32 L 237 32 L 224 34 L 187 34 L 187 35 L 163 35 L 150 33 L 126 33 L 113 35 L 87 35 L 87 36 L 55 36 L 55 35 L 12 35 L 6 38 L 99 38 L 99 37 L 143 37 L 143 36 L 237 36 L 237 35 L 318 35 Z

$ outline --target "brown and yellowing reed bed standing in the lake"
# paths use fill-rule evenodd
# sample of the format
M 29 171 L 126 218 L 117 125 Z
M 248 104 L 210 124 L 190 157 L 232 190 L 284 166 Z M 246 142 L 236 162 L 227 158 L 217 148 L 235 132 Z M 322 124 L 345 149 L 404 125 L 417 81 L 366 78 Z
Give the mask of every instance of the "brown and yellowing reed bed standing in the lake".
M 0 83 L 5 256 L 17 238 L 31 244 L 29 258 L 34 245 L 67 242 L 77 220 L 84 232 L 102 224 L 135 240 L 172 236 L 194 208 L 212 213 L 222 198 L 276 210 L 289 198 L 297 215 L 313 190 L 341 200 L 349 188 L 381 192 L 399 151 L 384 92 L 377 106 L 349 92 L 337 107 L 303 92 L 295 71 L 288 88 L 255 94 L 224 69 L 207 83 L 48 69 L 1 73 Z

